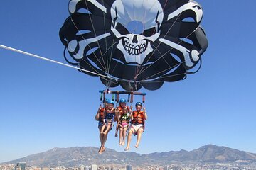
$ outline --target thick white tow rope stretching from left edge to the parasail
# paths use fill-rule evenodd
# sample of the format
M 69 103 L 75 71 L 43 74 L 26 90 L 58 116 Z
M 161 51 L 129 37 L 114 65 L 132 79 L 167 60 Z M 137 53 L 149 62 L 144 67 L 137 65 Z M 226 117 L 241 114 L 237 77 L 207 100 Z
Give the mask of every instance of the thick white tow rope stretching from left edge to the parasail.
M 111 77 L 107 77 L 107 76 L 102 75 L 102 74 L 99 74 L 99 73 L 90 72 L 89 70 L 81 69 L 81 68 L 79 68 L 79 67 L 75 67 L 75 66 L 72 66 L 72 65 L 69 65 L 69 64 L 65 64 L 65 63 L 63 63 L 63 62 L 58 62 L 58 61 L 55 61 L 55 60 L 51 60 L 51 59 L 48 59 L 48 58 L 46 58 L 46 57 L 41 57 L 41 56 L 39 56 L 39 55 L 33 55 L 32 53 L 24 52 L 24 51 L 22 51 L 22 50 L 17 50 L 17 49 L 12 48 L 12 47 L 7 47 L 7 46 L 5 46 L 5 45 L 0 45 L 0 47 L 3 48 L 3 49 L 5 49 L 5 50 L 10 50 L 10 51 L 13 51 L 13 52 L 21 53 L 21 54 L 23 54 L 23 55 L 28 55 L 28 56 L 31 56 L 31 57 L 36 57 L 36 58 L 39 58 L 39 59 L 41 59 L 41 60 L 46 60 L 46 61 L 48 61 L 48 62 L 54 62 L 54 63 L 56 63 L 56 64 L 60 64 L 60 65 L 63 65 L 63 66 L 66 66 L 66 67 L 70 67 L 70 68 L 73 68 L 73 69 L 79 69 L 79 70 L 82 71 L 82 72 L 87 72 L 87 73 L 90 73 L 90 74 L 95 74 L 95 75 L 97 75 L 97 76 L 99 76 L 99 77 L 105 77 L 105 78 L 107 78 L 107 79 L 112 79 Z

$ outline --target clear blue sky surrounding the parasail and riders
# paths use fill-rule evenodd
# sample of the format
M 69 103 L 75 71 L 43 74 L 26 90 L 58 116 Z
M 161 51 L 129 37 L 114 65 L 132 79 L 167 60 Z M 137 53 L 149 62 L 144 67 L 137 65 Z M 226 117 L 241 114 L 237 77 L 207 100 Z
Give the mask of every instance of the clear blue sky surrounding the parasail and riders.
M 256 1 L 198 3 L 209 40 L 201 70 L 140 90 L 149 118 L 131 152 L 213 144 L 256 153 Z M 67 17 L 68 0 L 1 1 L 0 44 L 65 63 L 58 31 Z M 53 147 L 99 147 L 94 116 L 105 86 L 97 77 L 0 49 L 0 80 L 0 162 Z M 106 147 L 123 151 L 117 144 L 112 131 Z

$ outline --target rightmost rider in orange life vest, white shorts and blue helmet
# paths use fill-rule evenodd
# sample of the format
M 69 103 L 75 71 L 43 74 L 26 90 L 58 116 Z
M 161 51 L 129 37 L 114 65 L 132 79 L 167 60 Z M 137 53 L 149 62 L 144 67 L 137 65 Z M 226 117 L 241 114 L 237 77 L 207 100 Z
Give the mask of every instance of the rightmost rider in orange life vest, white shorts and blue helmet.
M 142 103 L 137 102 L 135 106 L 136 106 L 136 111 L 133 111 L 131 115 L 132 121 L 129 129 L 129 134 L 127 137 L 127 147 L 124 149 L 125 151 L 130 149 L 132 134 L 137 135 L 137 142 L 134 147 L 136 148 L 139 147 L 139 142 L 142 137 L 142 132 L 144 132 L 145 120 L 147 119 L 146 109 L 143 108 L 142 110 Z

